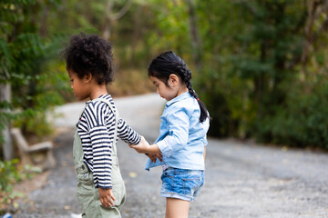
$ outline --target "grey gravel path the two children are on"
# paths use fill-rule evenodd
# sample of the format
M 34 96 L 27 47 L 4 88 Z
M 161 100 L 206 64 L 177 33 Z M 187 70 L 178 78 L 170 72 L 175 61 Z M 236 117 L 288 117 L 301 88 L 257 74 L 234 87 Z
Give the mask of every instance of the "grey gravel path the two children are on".
M 164 101 L 158 94 L 117 98 L 120 116 L 143 134 L 156 139 Z M 74 125 L 84 104 L 56 109 L 54 143 L 57 166 L 42 189 L 28 194 L 15 217 L 78 217 L 76 178 L 72 160 Z M 118 159 L 128 192 L 122 216 L 164 217 L 159 197 L 160 168 L 143 170 L 146 156 L 119 141 Z M 328 217 L 328 154 L 209 139 L 206 182 L 190 204 L 190 218 L 316 218 Z

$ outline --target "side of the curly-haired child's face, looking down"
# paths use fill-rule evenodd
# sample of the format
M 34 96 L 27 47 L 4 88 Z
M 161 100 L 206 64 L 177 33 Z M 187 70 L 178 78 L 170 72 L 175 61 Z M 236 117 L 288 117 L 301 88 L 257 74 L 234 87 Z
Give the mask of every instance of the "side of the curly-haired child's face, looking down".
M 73 93 L 77 97 L 77 100 L 81 101 L 87 99 L 90 96 L 86 82 L 87 75 L 83 78 L 79 78 L 75 72 L 69 70 L 68 76 L 71 83 L 71 88 L 73 89 Z

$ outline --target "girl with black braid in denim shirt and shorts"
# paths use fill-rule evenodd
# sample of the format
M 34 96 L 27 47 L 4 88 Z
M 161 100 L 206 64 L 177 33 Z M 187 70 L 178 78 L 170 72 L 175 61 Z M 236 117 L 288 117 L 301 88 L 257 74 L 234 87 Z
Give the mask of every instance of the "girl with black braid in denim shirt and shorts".
M 162 165 L 160 195 L 166 197 L 166 218 L 188 217 L 204 183 L 209 113 L 191 86 L 187 64 L 173 52 L 159 54 L 149 65 L 149 79 L 168 102 L 155 144 L 130 145 L 138 153 L 156 155 L 146 170 Z M 161 156 L 159 156 L 161 154 Z M 160 160 L 162 159 L 162 160 Z

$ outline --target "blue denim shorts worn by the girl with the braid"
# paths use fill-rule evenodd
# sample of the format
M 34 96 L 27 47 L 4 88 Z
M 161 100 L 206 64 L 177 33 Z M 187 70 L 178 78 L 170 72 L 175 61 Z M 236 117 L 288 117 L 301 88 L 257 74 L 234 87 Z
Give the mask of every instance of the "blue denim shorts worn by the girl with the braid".
M 161 175 L 160 196 L 194 201 L 204 184 L 204 171 L 169 167 Z

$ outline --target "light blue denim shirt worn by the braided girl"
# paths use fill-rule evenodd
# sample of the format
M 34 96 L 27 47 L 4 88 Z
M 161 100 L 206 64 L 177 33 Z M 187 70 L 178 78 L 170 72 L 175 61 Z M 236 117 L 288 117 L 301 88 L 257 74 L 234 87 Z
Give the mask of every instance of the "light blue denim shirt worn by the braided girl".
M 200 105 L 189 92 L 170 100 L 160 117 L 159 138 L 155 141 L 163 154 L 163 162 L 147 160 L 146 170 L 167 164 L 170 167 L 204 170 L 204 146 L 210 127 L 209 119 L 200 123 Z

